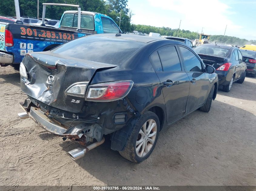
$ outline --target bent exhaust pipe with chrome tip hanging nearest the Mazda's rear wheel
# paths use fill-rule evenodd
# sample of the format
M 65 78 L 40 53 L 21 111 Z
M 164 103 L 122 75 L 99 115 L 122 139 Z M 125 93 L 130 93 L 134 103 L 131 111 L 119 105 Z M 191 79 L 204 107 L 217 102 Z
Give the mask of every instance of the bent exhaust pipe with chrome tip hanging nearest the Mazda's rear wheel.
M 101 145 L 102 143 L 105 142 L 105 138 L 102 137 L 100 142 L 95 142 L 85 148 L 75 148 L 72 151 L 68 151 L 68 155 L 75 161 L 78 158 L 82 158 L 83 156 L 85 156 L 85 154 L 90 151 L 91 149 L 98 147 L 99 145 Z

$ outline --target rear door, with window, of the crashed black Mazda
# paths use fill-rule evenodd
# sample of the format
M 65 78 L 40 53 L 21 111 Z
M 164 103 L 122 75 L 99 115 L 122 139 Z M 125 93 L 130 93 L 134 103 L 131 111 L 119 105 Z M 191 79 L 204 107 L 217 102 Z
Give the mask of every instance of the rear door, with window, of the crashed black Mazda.
M 182 117 L 186 112 L 189 78 L 181 65 L 181 58 L 175 45 L 157 49 L 150 55 L 149 59 L 161 82 L 167 123 L 169 124 Z

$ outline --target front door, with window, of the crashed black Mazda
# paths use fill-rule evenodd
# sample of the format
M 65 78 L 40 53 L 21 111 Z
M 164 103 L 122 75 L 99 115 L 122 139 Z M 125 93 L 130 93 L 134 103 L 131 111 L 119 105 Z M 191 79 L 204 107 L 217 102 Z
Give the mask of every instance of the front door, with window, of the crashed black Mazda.
M 209 76 L 204 72 L 204 65 L 193 51 L 179 45 L 185 72 L 190 80 L 190 89 L 186 113 L 205 103 L 209 89 Z

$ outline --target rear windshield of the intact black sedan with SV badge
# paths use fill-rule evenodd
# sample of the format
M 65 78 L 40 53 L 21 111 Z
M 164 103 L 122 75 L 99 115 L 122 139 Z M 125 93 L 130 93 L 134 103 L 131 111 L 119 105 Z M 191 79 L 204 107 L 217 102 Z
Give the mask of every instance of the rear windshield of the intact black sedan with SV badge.
M 229 49 L 226 48 L 221 48 L 218 46 L 198 46 L 194 48 L 194 51 L 198 54 L 208 54 L 208 55 L 213 55 L 213 56 L 221 56 L 221 57 L 226 57 L 228 56 L 228 51 Z

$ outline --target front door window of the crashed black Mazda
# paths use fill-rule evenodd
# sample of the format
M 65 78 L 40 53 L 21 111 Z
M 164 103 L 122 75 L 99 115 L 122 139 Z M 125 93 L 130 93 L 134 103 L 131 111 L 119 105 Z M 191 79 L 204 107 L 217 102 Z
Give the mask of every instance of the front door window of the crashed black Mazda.
M 184 67 L 186 72 L 202 72 L 202 66 L 200 60 L 194 55 L 194 53 L 182 46 L 180 46 L 181 54 L 184 59 Z

